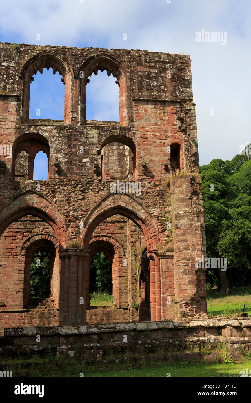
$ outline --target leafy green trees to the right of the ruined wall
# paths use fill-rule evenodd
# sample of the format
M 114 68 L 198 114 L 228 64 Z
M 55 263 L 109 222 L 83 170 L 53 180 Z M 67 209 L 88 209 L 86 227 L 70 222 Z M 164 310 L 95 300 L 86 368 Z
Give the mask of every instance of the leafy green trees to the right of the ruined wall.
M 248 284 L 251 276 L 251 160 L 242 154 L 231 161 L 212 160 L 200 167 L 207 220 L 207 256 L 226 258 L 226 272 L 209 269 L 210 286 Z M 212 186 L 213 185 L 213 186 Z

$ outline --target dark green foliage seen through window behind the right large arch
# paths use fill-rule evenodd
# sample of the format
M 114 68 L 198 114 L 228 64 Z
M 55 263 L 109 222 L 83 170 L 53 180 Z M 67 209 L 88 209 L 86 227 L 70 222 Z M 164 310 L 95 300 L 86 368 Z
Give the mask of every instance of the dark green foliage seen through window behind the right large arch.
M 101 291 L 112 293 L 112 264 L 104 254 L 96 253 L 90 262 L 90 285 L 89 293 Z

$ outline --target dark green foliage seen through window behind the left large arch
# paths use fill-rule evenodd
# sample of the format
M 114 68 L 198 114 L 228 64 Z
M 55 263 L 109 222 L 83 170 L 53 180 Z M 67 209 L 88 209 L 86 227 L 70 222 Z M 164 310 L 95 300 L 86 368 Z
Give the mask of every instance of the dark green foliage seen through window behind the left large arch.
M 50 253 L 37 252 L 31 262 L 30 297 L 50 296 Z

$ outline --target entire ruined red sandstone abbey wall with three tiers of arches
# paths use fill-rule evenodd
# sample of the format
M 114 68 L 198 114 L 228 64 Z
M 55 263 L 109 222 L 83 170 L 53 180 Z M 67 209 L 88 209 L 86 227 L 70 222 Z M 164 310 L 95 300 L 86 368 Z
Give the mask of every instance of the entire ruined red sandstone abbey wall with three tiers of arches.
M 203 317 L 190 57 L 5 43 L 0 66 L 0 326 Z M 62 75 L 62 121 L 29 119 L 30 84 L 44 68 Z M 85 88 L 98 70 L 116 77 L 119 122 L 85 118 Z M 37 181 L 41 150 L 48 179 Z M 30 296 L 37 251 L 50 256 L 43 301 Z M 95 308 L 89 262 L 101 251 L 112 263 L 113 307 Z

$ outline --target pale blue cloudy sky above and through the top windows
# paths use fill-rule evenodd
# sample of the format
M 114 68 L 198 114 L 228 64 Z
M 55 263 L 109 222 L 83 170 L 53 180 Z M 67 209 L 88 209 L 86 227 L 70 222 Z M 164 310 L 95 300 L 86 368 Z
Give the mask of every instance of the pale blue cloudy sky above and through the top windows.
M 229 160 L 242 144 L 250 143 L 249 0 L 3 0 L 0 15 L 0 42 L 190 54 L 200 164 L 214 158 Z M 203 29 L 226 32 L 226 44 L 196 42 L 195 33 Z M 35 91 L 30 117 L 38 118 L 39 108 L 41 118 L 50 118 L 53 112 L 54 118 L 62 119 L 60 78 L 51 69 L 37 73 L 31 83 L 31 92 Z M 50 93 L 49 99 L 52 85 L 54 98 Z M 42 87 L 40 96 L 36 86 Z M 114 77 L 106 72 L 92 75 L 87 118 L 118 120 L 116 116 Z

